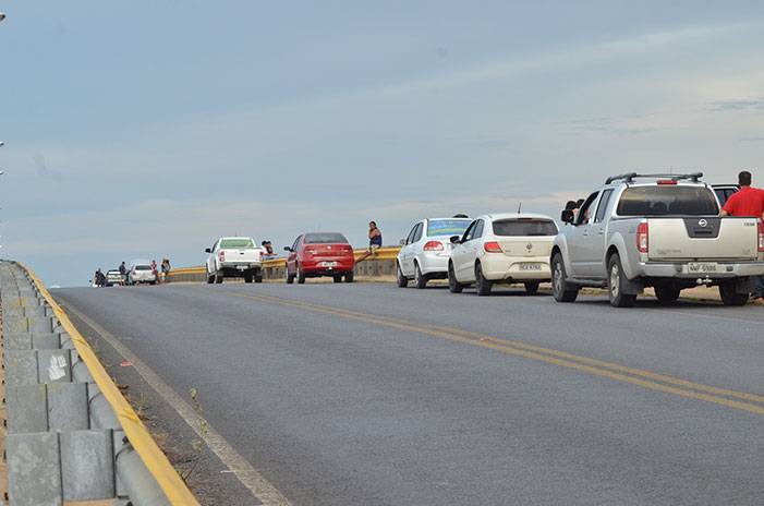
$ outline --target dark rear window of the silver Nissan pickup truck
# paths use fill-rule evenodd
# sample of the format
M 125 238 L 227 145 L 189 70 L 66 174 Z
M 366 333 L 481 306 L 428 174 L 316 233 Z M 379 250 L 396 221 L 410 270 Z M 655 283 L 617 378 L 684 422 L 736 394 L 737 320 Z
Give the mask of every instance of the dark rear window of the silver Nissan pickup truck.
M 714 193 L 706 186 L 657 184 L 623 190 L 618 216 L 718 215 Z

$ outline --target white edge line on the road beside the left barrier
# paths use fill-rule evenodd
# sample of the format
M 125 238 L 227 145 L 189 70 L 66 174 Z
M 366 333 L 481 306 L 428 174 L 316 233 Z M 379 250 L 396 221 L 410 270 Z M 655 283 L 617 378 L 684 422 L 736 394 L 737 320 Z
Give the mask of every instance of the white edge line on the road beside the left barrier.
M 284 495 L 263 477 L 252 465 L 237 451 L 211 425 L 202 419 L 175 390 L 165 383 L 148 365 L 130 351 L 119 339 L 107 329 L 85 316 L 71 304 L 61 304 L 68 311 L 85 322 L 87 326 L 97 332 L 104 340 L 117 350 L 123 359 L 133 363 L 135 371 L 154 388 L 165 401 L 185 420 L 196 435 L 204 439 L 209 449 L 222 461 L 223 465 L 235 474 L 239 481 L 246 486 L 264 506 L 291 506 Z

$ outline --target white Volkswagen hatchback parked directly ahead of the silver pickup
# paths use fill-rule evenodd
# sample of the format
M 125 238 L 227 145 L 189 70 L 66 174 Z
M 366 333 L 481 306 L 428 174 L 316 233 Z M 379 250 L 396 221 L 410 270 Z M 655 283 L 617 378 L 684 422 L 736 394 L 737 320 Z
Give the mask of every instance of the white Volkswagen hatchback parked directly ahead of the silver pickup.
M 513 213 L 476 218 L 451 242 L 448 287 L 459 293 L 475 285 L 478 296 L 490 294 L 494 284 L 524 284 L 529 294 L 551 279 L 549 254 L 557 225 L 545 215 Z

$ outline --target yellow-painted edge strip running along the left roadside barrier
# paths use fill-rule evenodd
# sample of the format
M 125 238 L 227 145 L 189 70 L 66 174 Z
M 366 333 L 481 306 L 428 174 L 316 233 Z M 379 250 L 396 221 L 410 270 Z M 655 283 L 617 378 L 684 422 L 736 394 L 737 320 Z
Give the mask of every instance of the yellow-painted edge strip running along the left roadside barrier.
M 77 353 L 80 353 L 80 358 L 85 362 L 85 365 L 87 365 L 90 375 L 93 375 L 96 381 L 96 385 L 98 385 L 101 394 L 104 394 L 104 397 L 109 401 L 111 409 L 117 414 L 117 419 L 120 421 L 130 444 L 133 445 L 141 460 L 143 460 L 148 471 L 165 492 L 170 504 L 178 506 L 198 506 L 196 497 L 194 497 L 180 478 L 167 459 L 165 453 L 159 449 L 159 446 L 157 446 L 157 443 L 149 434 L 146 425 L 143 424 L 133 410 L 133 407 L 130 406 L 130 402 L 122 396 L 122 393 L 106 372 L 98 357 L 96 357 L 93 348 L 90 348 L 82 334 L 80 334 L 80 330 L 74 327 L 66 313 L 64 313 L 61 306 L 53 300 L 48 289 L 45 288 L 45 285 L 43 285 L 32 269 L 20 263 L 17 265 L 26 270 L 29 278 L 37 286 L 40 294 L 43 294 L 53 309 L 56 317 L 59 318 L 63 328 L 72 337 L 72 341 L 74 342 Z

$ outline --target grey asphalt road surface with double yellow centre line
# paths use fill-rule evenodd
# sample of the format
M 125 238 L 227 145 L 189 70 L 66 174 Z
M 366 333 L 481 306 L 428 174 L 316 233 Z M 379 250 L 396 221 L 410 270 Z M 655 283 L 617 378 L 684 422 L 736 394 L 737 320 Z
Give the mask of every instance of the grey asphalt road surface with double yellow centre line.
M 761 306 L 379 284 L 53 294 L 197 388 L 295 505 L 764 504 Z

